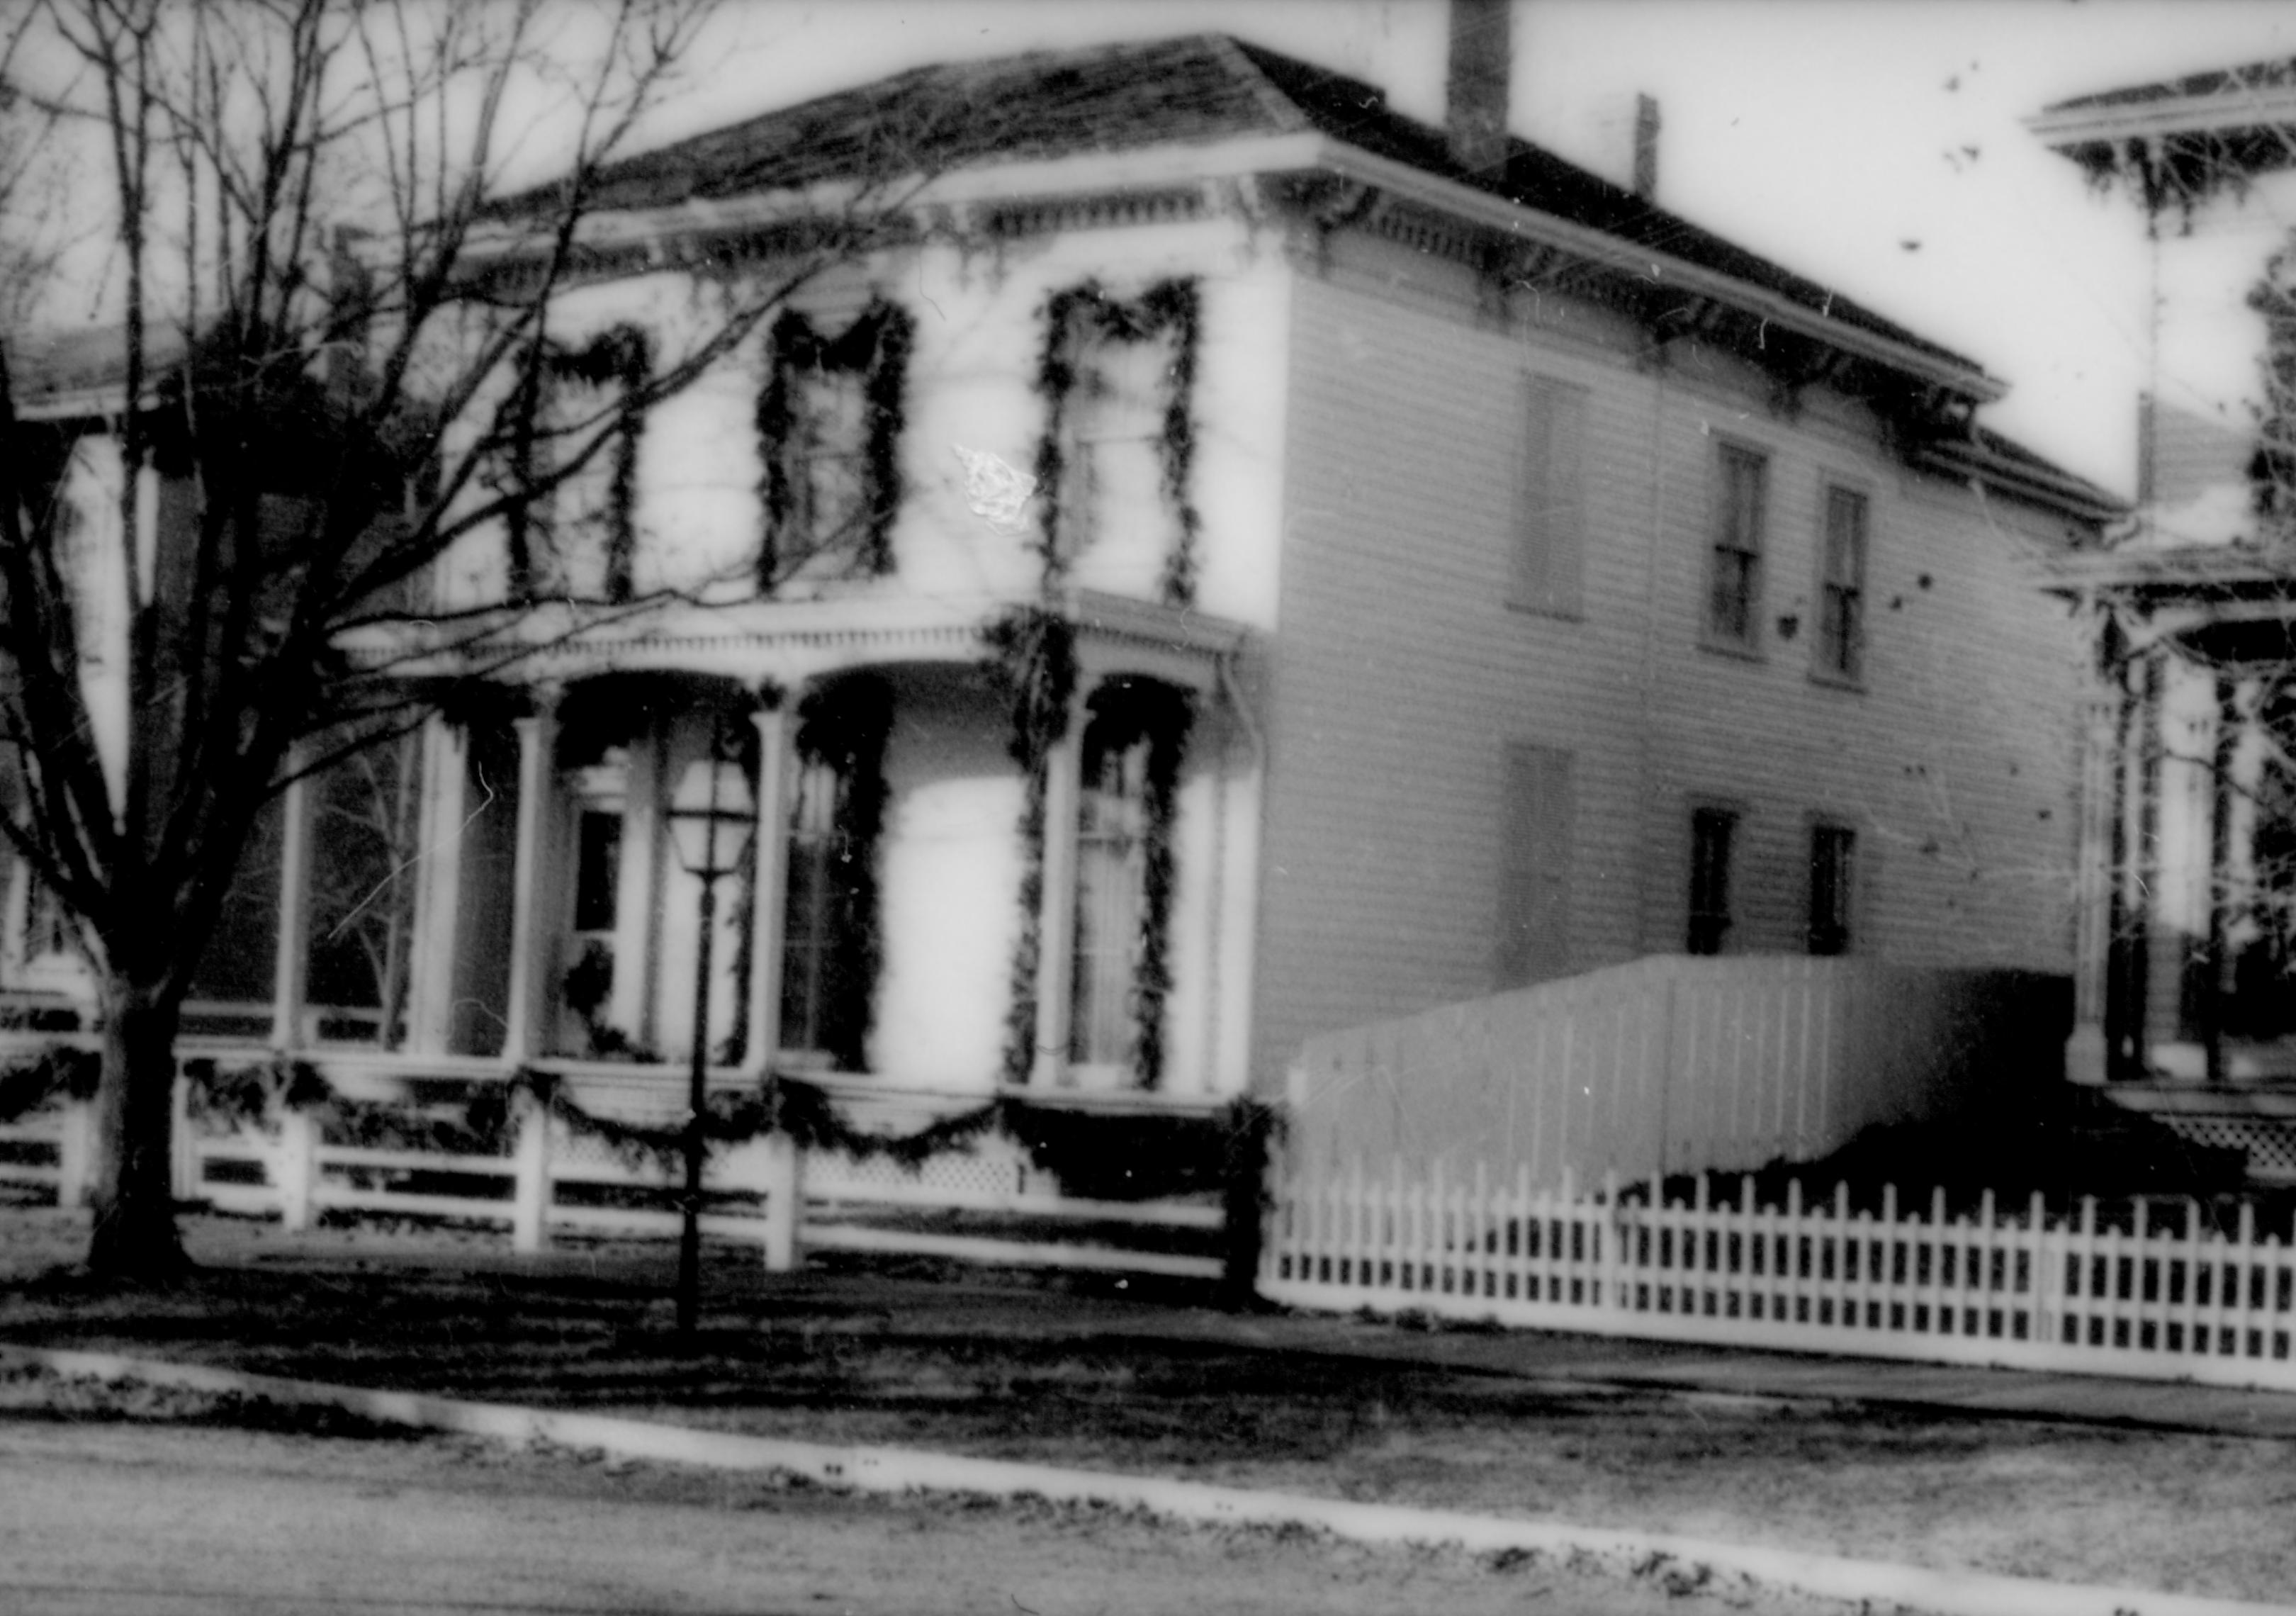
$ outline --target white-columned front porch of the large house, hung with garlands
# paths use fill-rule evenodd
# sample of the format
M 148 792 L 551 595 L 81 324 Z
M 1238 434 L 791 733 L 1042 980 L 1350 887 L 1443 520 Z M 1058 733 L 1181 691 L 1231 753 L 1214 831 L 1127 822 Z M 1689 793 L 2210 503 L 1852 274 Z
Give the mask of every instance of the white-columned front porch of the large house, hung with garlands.
M 1045 645 L 999 650 L 996 601 L 542 634 L 517 682 L 468 684 L 285 790 L 184 1049 L 358 1083 L 544 1070 L 670 1097 L 700 1038 L 716 1088 L 1240 1093 L 1249 973 L 1219 962 L 1249 957 L 1251 927 L 1242 631 L 1091 592 L 1029 611 L 1056 679 L 1019 666 Z M 709 760 L 737 767 L 755 831 L 703 950 L 703 879 L 666 810 Z M 21 868 L 5 920 L 0 1015 L 92 1026 L 69 927 Z

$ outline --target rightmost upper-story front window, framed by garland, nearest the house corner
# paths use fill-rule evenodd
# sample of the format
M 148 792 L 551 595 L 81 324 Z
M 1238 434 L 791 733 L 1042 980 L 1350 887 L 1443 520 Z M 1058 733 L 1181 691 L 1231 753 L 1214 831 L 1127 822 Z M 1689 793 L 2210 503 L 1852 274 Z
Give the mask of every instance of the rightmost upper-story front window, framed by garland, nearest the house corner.
M 1049 404 L 1038 452 L 1047 567 L 1091 558 L 1104 583 L 1139 576 L 1166 601 L 1189 604 L 1196 287 L 1166 280 L 1123 303 L 1084 285 L 1058 294 L 1047 319 L 1038 376 Z

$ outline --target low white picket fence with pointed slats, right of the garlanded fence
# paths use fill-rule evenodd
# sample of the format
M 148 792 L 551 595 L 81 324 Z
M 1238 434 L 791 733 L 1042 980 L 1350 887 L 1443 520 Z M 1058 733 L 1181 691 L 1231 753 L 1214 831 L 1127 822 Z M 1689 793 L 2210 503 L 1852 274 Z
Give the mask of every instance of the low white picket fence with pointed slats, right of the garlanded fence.
M 1261 1295 L 1322 1311 L 1421 1313 L 1701 1345 L 1995 1364 L 2296 1391 L 2296 1251 L 2227 1235 L 2193 1203 L 2096 1201 L 2050 1217 L 1993 1196 L 1947 1217 L 1942 1194 L 1853 1212 L 1688 1205 L 1580 1194 L 1488 1173 L 1302 1168 L 1277 1196 Z

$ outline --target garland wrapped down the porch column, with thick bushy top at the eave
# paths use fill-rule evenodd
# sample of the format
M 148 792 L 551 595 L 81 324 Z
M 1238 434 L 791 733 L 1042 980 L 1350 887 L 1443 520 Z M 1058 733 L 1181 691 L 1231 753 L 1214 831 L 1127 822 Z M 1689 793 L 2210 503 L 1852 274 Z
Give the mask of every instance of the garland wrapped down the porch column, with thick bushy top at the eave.
M 1013 728 L 1006 751 L 1022 774 L 1019 937 L 1013 943 L 1006 1001 L 1003 1081 L 1026 1083 L 1035 1067 L 1035 969 L 1045 953 L 1045 790 L 1052 748 L 1068 735 L 1068 702 L 1077 689 L 1077 629 L 1042 606 L 1015 606 L 990 622 L 990 679 L 1006 693 Z

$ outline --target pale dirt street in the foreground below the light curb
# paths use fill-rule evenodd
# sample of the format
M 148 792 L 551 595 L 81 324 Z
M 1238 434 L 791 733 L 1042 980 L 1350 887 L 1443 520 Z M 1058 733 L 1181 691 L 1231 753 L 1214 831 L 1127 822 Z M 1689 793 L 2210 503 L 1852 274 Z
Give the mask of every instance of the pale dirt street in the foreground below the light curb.
M 1552 1561 L 1362 1549 L 457 1439 L 0 1414 L 0 1609 L 312 1611 L 1587 1611 L 1837 1607 Z

